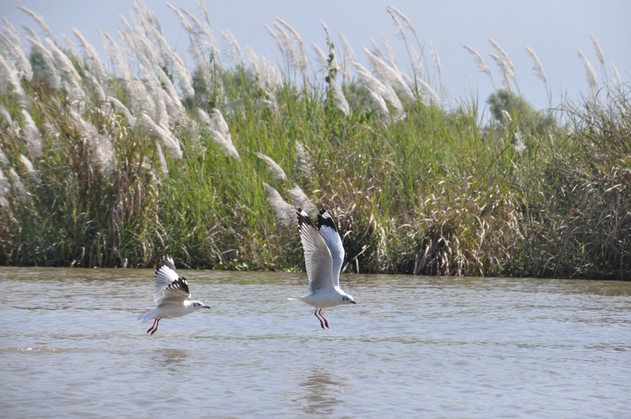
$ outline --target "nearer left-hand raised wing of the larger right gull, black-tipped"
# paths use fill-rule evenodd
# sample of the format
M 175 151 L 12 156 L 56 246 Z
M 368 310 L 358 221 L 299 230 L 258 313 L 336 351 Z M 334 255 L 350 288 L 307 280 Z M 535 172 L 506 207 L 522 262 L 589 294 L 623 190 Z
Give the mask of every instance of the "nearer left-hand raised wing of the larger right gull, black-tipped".
M 309 276 L 309 292 L 333 290 L 333 259 L 314 222 L 304 210 L 298 208 L 298 231 L 305 252 L 305 265 Z

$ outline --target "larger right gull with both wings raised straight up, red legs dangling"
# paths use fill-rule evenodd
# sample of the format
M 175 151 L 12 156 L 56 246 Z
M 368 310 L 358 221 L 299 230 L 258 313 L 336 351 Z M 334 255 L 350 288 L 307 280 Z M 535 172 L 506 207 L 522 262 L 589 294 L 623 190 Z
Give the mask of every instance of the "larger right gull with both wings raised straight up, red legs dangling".
M 305 265 L 309 277 L 309 295 L 292 297 L 315 307 L 315 317 L 320 326 L 329 327 L 322 316 L 322 309 L 343 304 L 357 304 L 351 295 L 339 288 L 339 271 L 344 261 L 344 247 L 339 237 L 338 227 L 327 211 L 321 210 L 317 216 L 317 228 L 309 215 L 298 208 L 298 231 L 305 252 Z M 322 319 L 318 316 L 322 317 Z M 324 320 L 324 323 L 322 323 Z

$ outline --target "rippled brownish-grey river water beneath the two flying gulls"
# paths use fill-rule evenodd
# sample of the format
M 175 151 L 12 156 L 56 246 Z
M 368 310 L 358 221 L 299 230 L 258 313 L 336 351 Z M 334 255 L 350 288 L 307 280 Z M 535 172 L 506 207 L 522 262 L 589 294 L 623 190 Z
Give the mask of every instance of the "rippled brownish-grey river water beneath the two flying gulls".
M 628 418 L 631 283 L 180 271 L 210 305 L 151 322 L 152 271 L 0 268 L 4 417 Z

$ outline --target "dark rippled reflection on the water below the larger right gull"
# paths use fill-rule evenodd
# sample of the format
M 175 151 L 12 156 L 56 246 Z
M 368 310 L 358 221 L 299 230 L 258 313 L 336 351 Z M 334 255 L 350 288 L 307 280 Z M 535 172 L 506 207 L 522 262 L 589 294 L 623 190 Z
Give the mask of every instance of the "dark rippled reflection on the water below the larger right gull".
M 296 401 L 304 404 L 303 410 L 307 415 L 330 415 L 339 404 L 345 403 L 340 398 L 346 386 L 341 379 L 336 374 L 314 367 L 298 384 L 303 387 L 305 394 Z

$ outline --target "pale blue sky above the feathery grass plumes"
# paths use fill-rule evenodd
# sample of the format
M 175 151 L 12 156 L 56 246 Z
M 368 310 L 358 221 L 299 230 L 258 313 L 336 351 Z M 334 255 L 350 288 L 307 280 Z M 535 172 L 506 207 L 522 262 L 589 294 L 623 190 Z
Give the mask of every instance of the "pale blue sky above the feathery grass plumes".
M 174 6 L 198 14 L 196 0 L 172 0 Z M 320 21 L 324 20 L 334 41 L 342 32 L 360 56 L 360 46 L 370 47 L 370 38 L 381 44 L 381 32 L 390 38 L 399 54 L 400 68 L 404 68 L 406 55 L 386 7 L 400 9 L 415 25 L 420 41 L 436 45 L 442 62 L 442 81 L 457 96 L 479 91 L 485 99 L 491 91 L 485 74 L 478 71 L 473 57 L 460 44 L 471 45 L 483 55 L 498 85 L 501 76 L 497 66 L 488 56 L 495 52 L 485 37 L 495 39 L 504 47 L 514 63 L 522 93 L 538 106 L 547 105 L 545 89 L 536 78 L 533 64 L 524 45 L 531 47 L 539 56 L 548 83 L 553 92 L 553 102 L 561 95 L 576 98 L 587 92 L 586 75 L 575 47 L 579 47 L 592 62 L 599 83 L 602 73 L 594 52 L 589 33 L 598 39 L 609 71 L 614 62 L 627 81 L 631 69 L 631 1 L 493 1 L 493 0 L 442 0 L 442 1 L 204 1 L 208 9 L 215 37 L 230 29 L 240 44 L 247 44 L 258 54 L 278 56 L 276 47 L 262 24 L 271 24 L 278 16 L 295 28 L 307 45 L 312 42 L 324 49 L 324 32 Z M 131 1 L 128 0 L 2 0 L 0 14 L 20 27 L 27 23 L 35 27 L 30 17 L 15 8 L 20 4 L 43 15 L 52 32 L 61 40 L 61 34 L 72 35 L 71 27 L 77 27 L 100 51 L 100 40 L 95 25 L 115 38 L 119 24 L 117 14 L 129 16 Z M 147 0 L 163 28 L 167 39 L 179 50 L 186 50 L 188 38 L 175 14 L 163 1 Z M 223 45 L 220 45 L 223 47 Z

